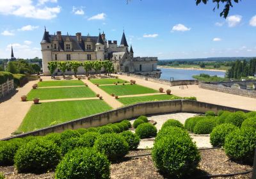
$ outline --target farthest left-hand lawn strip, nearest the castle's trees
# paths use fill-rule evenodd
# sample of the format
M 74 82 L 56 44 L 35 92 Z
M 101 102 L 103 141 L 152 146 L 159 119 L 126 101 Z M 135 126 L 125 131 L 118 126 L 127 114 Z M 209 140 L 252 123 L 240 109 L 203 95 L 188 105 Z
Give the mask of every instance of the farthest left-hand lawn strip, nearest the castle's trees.
M 63 80 L 63 81 L 42 81 L 38 82 L 38 87 L 48 86 L 82 86 L 83 81 L 80 80 Z

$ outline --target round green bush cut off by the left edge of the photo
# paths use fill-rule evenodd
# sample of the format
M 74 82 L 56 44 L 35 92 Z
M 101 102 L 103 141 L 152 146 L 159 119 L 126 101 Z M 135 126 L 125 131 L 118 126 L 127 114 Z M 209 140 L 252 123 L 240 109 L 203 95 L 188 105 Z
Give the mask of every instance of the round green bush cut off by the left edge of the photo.
M 14 155 L 23 144 L 22 139 L 12 139 L 10 141 L 0 142 L 0 166 L 13 165 Z

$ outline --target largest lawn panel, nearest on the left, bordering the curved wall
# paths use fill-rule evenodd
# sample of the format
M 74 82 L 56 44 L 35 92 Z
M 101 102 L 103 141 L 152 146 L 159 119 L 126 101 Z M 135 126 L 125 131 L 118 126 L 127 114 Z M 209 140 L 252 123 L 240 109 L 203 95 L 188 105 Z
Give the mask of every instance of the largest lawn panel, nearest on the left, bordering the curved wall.
M 48 127 L 54 121 L 70 121 L 110 110 L 104 100 L 77 100 L 33 104 L 19 130 L 28 132 Z

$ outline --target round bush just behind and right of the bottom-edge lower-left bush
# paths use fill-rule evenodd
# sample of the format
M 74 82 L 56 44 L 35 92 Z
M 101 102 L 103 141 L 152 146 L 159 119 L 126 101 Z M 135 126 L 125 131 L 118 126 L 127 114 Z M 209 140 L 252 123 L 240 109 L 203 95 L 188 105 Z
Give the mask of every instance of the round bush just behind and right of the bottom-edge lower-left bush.
M 108 156 L 109 160 L 118 160 L 129 152 L 129 144 L 119 134 L 103 134 L 95 141 L 93 148 Z

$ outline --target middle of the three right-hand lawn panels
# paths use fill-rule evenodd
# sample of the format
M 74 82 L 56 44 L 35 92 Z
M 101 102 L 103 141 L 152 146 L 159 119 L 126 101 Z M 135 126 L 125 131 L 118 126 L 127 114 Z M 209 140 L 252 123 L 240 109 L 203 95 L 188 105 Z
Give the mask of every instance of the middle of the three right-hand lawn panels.
M 138 95 L 145 93 L 157 93 L 155 89 L 147 88 L 145 86 L 140 86 L 138 84 L 130 85 L 109 85 L 109 86 L 99 86 L 99 88 L 106 91 L 108 94 L 114 93 L 115 95 Z

